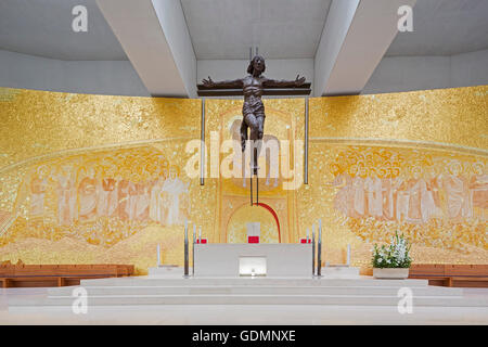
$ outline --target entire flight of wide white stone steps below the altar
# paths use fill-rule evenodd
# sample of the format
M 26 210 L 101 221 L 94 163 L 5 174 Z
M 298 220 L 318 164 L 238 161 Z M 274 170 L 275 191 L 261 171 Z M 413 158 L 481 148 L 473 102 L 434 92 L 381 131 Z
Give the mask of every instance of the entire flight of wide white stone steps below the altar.
M 428 286 L 426 280 L 150 277 L 82 280 L 88 305 L 339 305 L 397 306 L 398 291 L 409 287 L 414 306 L 488 307 L 488 292 L 468 296 L 462 288 Z M 50 288 L 44 297 L 12 299 L 9 309 L 72 309 L 73 287 Z

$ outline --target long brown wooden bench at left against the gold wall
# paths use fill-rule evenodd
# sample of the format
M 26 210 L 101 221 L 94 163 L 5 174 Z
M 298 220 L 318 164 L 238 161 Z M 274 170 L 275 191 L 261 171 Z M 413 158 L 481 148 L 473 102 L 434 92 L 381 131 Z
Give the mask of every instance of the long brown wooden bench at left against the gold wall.
M 132 275 L 133 265 L 0 265 L 1 287 L 79 285 L 81 280 Z

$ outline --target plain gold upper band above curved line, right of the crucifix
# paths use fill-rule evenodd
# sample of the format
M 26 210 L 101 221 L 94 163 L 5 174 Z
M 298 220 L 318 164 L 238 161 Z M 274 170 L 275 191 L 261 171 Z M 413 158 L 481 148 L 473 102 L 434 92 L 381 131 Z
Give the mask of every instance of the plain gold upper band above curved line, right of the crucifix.
M 488 147 L 488 86 L 311 98 L 310 140 L 385 139 Z M 432 143 L 434 142 L 434 143 Z

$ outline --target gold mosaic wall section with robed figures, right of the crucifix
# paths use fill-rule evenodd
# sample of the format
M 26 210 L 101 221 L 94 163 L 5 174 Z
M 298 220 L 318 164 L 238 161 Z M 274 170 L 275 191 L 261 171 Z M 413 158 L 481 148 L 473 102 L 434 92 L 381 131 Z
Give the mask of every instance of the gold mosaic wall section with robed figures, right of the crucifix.
M 309 185 L 325 261 L 368 267 L 396 231 L 415 262 L 488 264 L 488 87 L 310 99 Z

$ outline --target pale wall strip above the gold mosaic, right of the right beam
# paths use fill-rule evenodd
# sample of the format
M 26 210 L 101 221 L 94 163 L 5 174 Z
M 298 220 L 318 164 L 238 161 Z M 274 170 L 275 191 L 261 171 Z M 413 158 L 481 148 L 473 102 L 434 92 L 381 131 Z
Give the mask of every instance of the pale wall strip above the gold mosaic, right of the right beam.
M 362 94 L 488 85 L 488 50 L 452 56 L 385 56 Z

